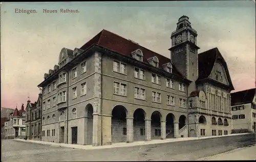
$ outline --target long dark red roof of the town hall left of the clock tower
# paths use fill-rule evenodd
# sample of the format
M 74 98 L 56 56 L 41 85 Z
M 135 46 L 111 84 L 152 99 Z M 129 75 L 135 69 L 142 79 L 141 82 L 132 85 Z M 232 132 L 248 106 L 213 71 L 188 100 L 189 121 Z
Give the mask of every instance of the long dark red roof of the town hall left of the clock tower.
M 132 52 L 140 49 L 143 53 L 143 62 L 148 63 L 147 62 L 148 58 L 152 58 L 156 56 L 159 60 L 159 68 L 162 68 L 163 64 L 170 62 L 169 58 L 164 57 L 151 50 L 148 50 L 142 47 L 141 45 L 139 45 L 138 43 L 125 39 L 117 34 L 114 34 L 104 29 L 101 32 L 99 32 L 95 37 L 93 37 L 90 41 L 84 44 L 80 49 L 86 50 L 92 44 L 98 44 L 106 49 L 112 50 L 114 52 L 117 52 L 119 54 L 131 57 L 131 58 L 132 58 L 131 56 Z M 176 74 L 184 78 L 184 76 L 182 76 L 182 74 L 177 70 L 177 68 L 174 65 L 173 65 L 173 74 Z

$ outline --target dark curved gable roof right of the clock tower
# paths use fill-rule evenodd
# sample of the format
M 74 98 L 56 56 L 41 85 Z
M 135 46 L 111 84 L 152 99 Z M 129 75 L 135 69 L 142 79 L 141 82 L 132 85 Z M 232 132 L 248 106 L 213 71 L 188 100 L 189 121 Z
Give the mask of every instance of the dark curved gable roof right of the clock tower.
M 227 63 L 222 57 L 218 48 L 210 49 L 208 51 L 198 54 L 198 79 L 197 80 L 207 79 L 210 76 L 210 73 L 216 61 L 220 61 L 220 63 L 223 65 L 225 73 L 227 75 L 229 86 L 231 90 L 233 90 L 234 87 L 228 72 Z

